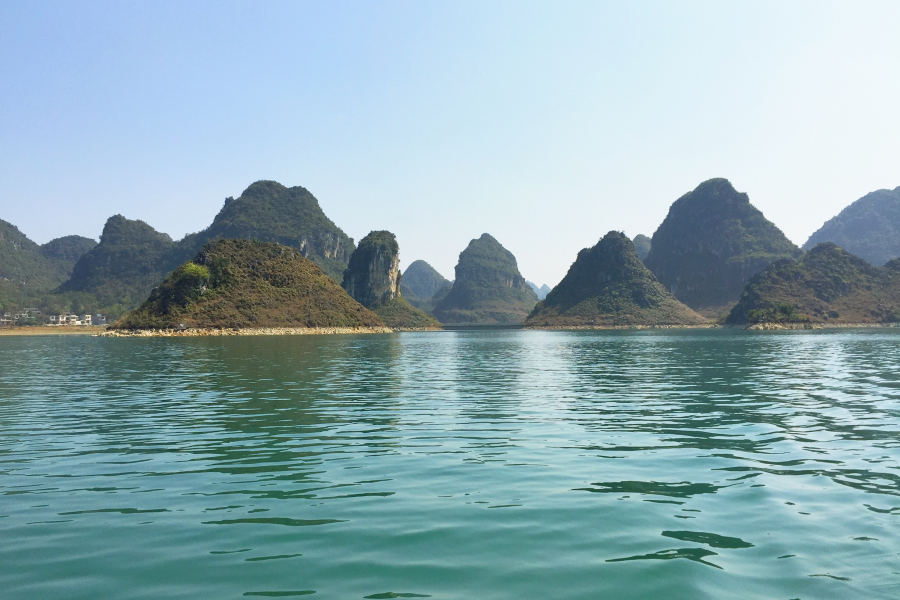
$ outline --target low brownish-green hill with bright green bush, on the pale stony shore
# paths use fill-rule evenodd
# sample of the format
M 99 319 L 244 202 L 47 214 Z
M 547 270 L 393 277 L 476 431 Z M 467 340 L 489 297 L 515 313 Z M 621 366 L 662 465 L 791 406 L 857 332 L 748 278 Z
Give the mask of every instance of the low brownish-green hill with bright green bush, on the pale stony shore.
M 181 265 L 114 327 L 380 327 L 296 248 L 217 240 Z

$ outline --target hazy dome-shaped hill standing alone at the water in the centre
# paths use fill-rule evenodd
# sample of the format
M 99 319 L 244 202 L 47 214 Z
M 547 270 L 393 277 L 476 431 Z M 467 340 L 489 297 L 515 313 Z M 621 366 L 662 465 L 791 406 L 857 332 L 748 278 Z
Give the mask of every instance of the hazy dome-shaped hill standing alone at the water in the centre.
M 460 253 L 456 281 L 438 301 L 434 316 L 448 324 L 518 324 L 537 301 L 516 257 L 485 233 Z

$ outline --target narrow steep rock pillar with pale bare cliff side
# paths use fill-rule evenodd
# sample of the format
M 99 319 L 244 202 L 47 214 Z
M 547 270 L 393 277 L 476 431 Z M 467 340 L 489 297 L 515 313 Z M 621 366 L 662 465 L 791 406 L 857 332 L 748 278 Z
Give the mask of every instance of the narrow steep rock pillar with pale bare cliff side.
M 390 231 L 373 231 L 350 256 L 341 284 L 350 296 L 376 309 L 400 295 L 400 248 Z

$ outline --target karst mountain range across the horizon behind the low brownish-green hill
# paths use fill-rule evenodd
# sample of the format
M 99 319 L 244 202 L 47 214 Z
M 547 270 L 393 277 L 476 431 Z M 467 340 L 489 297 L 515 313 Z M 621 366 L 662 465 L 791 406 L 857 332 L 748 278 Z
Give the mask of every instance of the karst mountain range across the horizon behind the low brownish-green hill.
M 900 188 L 872 192 L 848 206 L 810 237 L 804 254 L 746 194 L 726 179 L 711 179 L 672 204 L 652 239 L 637 235 L 632 241 L 610 232 L 582 250 L 550 290 L 526 281 L 515 257 L 488 234 L 460 254 L 453 282 L 421 260 L 401 274 L 390 232 L 372 232 L 357 248 L 308 190 L 257 181 L 237 199 L 228 198 L 209 227 L 179 241 L 115 215 L 99 244 L 67 236 L 39 246 L 0 221 L 0 309 L 33 306 L 117 317 L 144 306 L 155 288 L 158 305 L 164 300 L 159 290 L 177 288 L 170 274 L 225 239 L 292 248 L 323 276 L 342 283 L 342 293 L 371 310 L 379 323 L 399 328 L 437 326 L 435 317 L 459 325 L 521 324 L 528 317 L 537 326 L 693 324 L 703 317 L 735 324 L 800 318 L 875 322 L 895 315 L 890 261 L 900 256 Z M 243 259 L 234 254 L 233 260 Z M 885 263 L 882 270 L 866 270 Z M 794 279 L 786 287 L 787 277 Z M 828 277 L 832 282 L 826 284 Z M 318 281 L 296 279 L 301 280 Z M 844 291 L 821 292 L 833 285 Z

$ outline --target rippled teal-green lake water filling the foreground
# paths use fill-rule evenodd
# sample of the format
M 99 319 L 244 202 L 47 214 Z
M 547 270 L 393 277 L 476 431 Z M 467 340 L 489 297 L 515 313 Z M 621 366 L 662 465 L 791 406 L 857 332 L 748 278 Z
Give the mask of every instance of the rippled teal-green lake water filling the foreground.
M 900 598 L 900 332 L 0 338 L 4 599 Z

